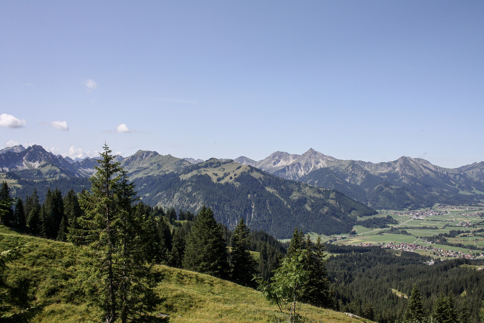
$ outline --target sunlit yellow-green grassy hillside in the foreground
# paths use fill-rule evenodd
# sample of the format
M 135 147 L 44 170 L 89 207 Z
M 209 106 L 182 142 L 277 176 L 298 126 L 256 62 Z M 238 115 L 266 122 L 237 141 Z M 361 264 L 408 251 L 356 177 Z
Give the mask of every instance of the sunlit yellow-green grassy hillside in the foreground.
M 71 292 L 76 271 L 81 266 L 76 259 L 76 248 L 68 243 L 20 235 L 0 226 L 1 250 L 26 243 L 30 243 L 29 250 L 10 264 L 7 280 L 14 287 L 13 296 L 49 303 L 33 322 L 100 322 L 97 317 L 100 313 Z M 278 313 L 276 306 L 253 289 L 182 269 L 156 266 L 155 270 L 165 274 L 156 290 L 166 301 L 158 310 L 170 315 L 171 322 L 262 323 L 271 322 Z M 370 322 L 306 305 L 301 312 L 311 322 Z

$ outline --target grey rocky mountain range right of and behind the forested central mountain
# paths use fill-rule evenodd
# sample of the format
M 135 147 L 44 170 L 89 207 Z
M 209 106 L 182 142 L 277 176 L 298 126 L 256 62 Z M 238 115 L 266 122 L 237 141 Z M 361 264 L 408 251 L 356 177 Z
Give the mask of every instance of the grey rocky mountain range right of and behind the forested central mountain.
M 245 156 L 235 160 L 288 180 L 334 188 L 376 209 L 484 202 L 484 162 L 457 169 L 408 156 L 371 163 L 337 159 L 312 148 L 302 155 L 277 151 L 257 162 Z

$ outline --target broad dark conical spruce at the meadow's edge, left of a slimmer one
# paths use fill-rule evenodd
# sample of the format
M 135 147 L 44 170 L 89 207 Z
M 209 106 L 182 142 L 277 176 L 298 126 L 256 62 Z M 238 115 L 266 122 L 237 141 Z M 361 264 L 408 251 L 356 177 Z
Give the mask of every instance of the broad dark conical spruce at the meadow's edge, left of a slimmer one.
M 211 208 L 202 206 L 188 234 L 183 268 L 228 278 L 227 247 L 222 227 L 215 221 Z

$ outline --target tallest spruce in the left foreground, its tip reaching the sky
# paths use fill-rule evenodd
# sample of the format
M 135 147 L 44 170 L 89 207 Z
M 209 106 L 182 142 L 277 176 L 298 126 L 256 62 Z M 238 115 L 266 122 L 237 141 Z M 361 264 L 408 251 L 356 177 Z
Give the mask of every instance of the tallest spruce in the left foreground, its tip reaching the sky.
M 81 257 L 90 266 L 79 279 L 86 296 L 104 311 L 106 323 L 149 321 L 148 312 L 160 301 L 153 292 L 159 276 L 151 271 L 155 232 L 144 215 L 136 215 L 135 185 L 111 152 L 105 145 L 90 179 L 91 192 L 80 195 L 81 229 L 70 228 L 69 239 L 87 246 Z

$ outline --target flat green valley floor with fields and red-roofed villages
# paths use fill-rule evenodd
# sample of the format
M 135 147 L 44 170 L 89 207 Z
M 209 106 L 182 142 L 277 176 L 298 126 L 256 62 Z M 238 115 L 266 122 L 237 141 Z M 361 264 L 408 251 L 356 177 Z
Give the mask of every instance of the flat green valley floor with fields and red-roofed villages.
M 484 258 L 482 207 L 441 204 L 406 212 L 381 210 L 375 216 L 391 216 L 398 224 L 373 229 L 355 226 L 354 234 L 334 236 L 329 242 L 417 252 L 441 260 Z

